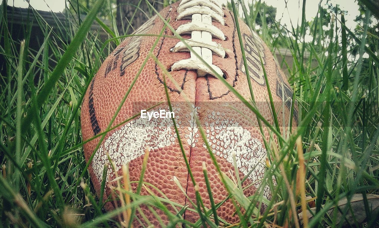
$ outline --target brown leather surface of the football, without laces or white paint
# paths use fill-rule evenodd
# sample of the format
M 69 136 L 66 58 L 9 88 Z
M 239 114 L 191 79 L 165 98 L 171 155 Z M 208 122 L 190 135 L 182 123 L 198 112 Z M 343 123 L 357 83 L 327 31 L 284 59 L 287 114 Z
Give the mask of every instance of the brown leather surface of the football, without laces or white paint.
M 160 12 L 164 18 L 170 19 L 170 25 L 174 29 L 183 23 L 189 22 L 189 20 L 175 20 L 177 16 L 176 9 L 178 5 L 179 3 L 175 3 L 171 5 L 171 7 L 166 7 L 163 9 L 163 11 Z M 227 36 L 227 40 L 220 41 L 218 39 L 213 39 L 213 41 L 220 43 L 222 47 L 226 48 L 227 58 L 221 58 L 213 55 L 213 64 L 220 67 L 227 75 L 226 80 L 231 85 L 233 85 L 236 91 L 238 91 L 241 95 L 243 95 L 243 97 L 249 100 L 250 92 L 247 84 L 247 78 L 245 73 L 241 71 L 242 55 L 238 42 L 238 35 L 235 31 L 234 19 L 232 14 L 227 9 L 224 9 L 224 13 L 226 25 L 223 26 L 216 22 L 213 22 L 213 25 L 220 28 L 224 32 L 224 34 Z M 163 22 L 161 22 L 158 17 L 155 17 L 153 20 L 147 23 L 150 26 L 146 27 L 145 30 L 142 30 L 143 33 L 159 34 L 160 30 L 163 28 Z M 250 34 L 248 36 L 252 37 L 250 30 L 241 20 L 240 27 L 241 33 Z M 172 36 L 173 34 L 167 28 L 164 35 Z M 125 39 L 125 41 L 122 42 L 119 47 L 117 47 L 116 50 L 114 50 L 114 52 L 111 53 L 111 55 L 108 56 L 108 58 L 103 62 L 95 78 L 93 79 L 93 85 L 88 89 L 81 109 L 83 140 L 89 139 L 90 137 L 93 137 L 95 134 L 98 134 L 107 128 L 127 89 L 131 85 L 133 78 L 135 77 L 136 73 L 141 67 L 142 62 L 146 58 L 147 53 L 152 47 L 152 44 L 155 42 L 155 39 L 157 39 L 156 36 L 142 36 L 139 38 L 136 37 L 138 36 L 132 36 Z M 183 37 L 189 38 L 188 35 L 184 35 Z M 138 42 L 135 42 L 136 39 Z M 153 54 L 157 56 L 157 58 L 162 62 L 166 69 L 170 69 L 172 64 L 174 64 L 176 61 L 179 61 L 180 59 L 189 58 L 188 52 L 172 53 L 169 51 L 170 48 L 174 47 L 178 41 L 178 39 L 170 37 L 160 38 L 158 45 L 153 52 Z M 262 40 L 259 39 L 259 42 L 260 45 L 262 45 L 264 48 L 263 57 L 265 61 L 265 70 L 268 76 L 268 83 L 271 87 L 271 90 L 277 91 L 279 88 L 282 89 L 281 91 L 283 91 L 284 87 L 289 88 L 286 79 L 283 78 L 284 74 L 281 72 L 279 67 L 277 67 L 273 55 L 269 52 L 268 47 L 263 44 Z M 245 44 L 246 40 L 244 40 L 244 45 Z M 135 48 L 136 46 L 139 47 L 138 55 L 134 54 L 132 56 L 138 56 L 138 58 L 136 58 L 134 62 L 131 62 L 124 70 L 122 70 L 122 61 L 127 61 L 127 59 L 123 59 L 123 53 L 127 51 L 130 53 L 135 53 L 135 49 L 131 47 Z M 256 62 L 256 64 L 256 66 L 260 66 L 260 62 Z M 282 79 L 278 77 L 278 72 L 282 75 Z M 206 191 L 204 176 L 202 173 L 203 161 L 205 161 L 207 164 L 209 179 L 211 181 L 211 187 L 216 203 L 223 200 L 227 196 L 227 192 L 216 175 L 216 169 L 211 162 L 208 151 L 203 146 L 204 143 L 198 132 L 194 137 L 195 142 L 193 143 L 195 146 L 191 148 L 191 145 L 187 143 L 188 135 L 191 135 L 191 131 L 193 131 L 193 122 L 189 121 L 189 119 L 191 119 L 191 110 L 184 103 L 185 99 L 183 98 L 183 94 L 185 94 L 196 107 L 199 107 L 199 109 L 197 109 L 198 117 L 203 127 L 205 127 L 205 130 L 210 130 L 208 133 L 209 139 L 212 137 L 212 130 L 209 126 L 211 123 L 215 125 L 219 124 L 221 128 L 221 123 L 224 125 L 226 124 L 227 127 L 229 127 L 224 128 L 224 131 L 219 130 L 219 132 L 216 132 L 217 126 L 213 126 L 213 131 L 215 134 L 218 134 L 219 138 L 216 139 L 214 137 L 213 139 L 210 139 L 212 145 L 215 145 L 214 153 L 216 154 L 217 151 L 219 152 L 219 155 L 216 155 L 217 161 L 220 164 L 222 171 L 227 173 L 227 175 L 229 175 L 229 170 L 233 170 L 232 172 L 234 173 L 234 167 L 232 166 L 232 163 L 230 163 L 230 161 L 228 162 L 225 158 L 228 156 L 230 158 L 232 151 L 244 150 L 244 152 L 237 153 L 237 155 L 244 156 L 243 161 L 265 161 L 265 155 L 262 155 L 262 151 L 264 151 L 262 135 L 257 126 L 257 119 L 255 117 L 255 114 L 249 111 L 249 109 L 247 109 L 246 106 L 241 103 L 239 99 L 234 94 L 232 94 L 232 92 L 230 92 L 227 87 L 224 86 L 224 84 L 222 84 L 222 82 L 217 78 L 213 76 L 197 77 L 194 71 L 188 70 L 172 71 L 170 73 L 172 77 L 177 81 L 177 83 L 182 86 L 183 89 L 183 92 L 179 93 L 174 84 L 170 82 L 168 78 L 166 78 L 166 81 L 168 81 L 171 102 L 178 105 L 175 108 L 180 108 L 180 112 L 175 113 L 175 120 L 177 121 L 178 125 L 180 125 L 180 137 L 183 141 L 184 150 L 186 156 L 189 159 L 190 167 L 195 177 L 195 181 L 197 184 L 199 184 L 200 195 L 204 200 L 205 206 L 210 208 L 208 193 Z M 112 126 L 124 121 L 125 119 L 128 119 L 136 113 L 139 113 L 141 109 L 149 108 L 156 102 L 166 101 L 162 77 L 163 73 L 159 69 L 159 66 L 157 66 L 152 59 L 149 59 Z M 283 86 L 277 87 L 278 82 L 280 83 L 281 81 L 284 83 Z M 257 102 L 261 114 L 271 124 L 273 124 L 271 109 L 267 102 L 269 100 L 267 85 L 265 83 L 262 85 L 262 81 L 260 80 L 254 80 L 254 76 L 251 78 L 251 83 L 255 95 L 255 101 Z M 287 95 L 288 92 L 289 90 L 287 89 Z M 273 99 L 276 105 L 276 110 L 278 112 L 279 123 L 282 124 L 284 122 L 284 124 L 287 125 L 289 116 L 288 108 L 286 106 L 283 108 L 282 97 L 278 96 L 277 92 L 273 92 Z M 235 108 L 241 110 L 248 119 L 252 120 L 252 122 L 249 122 L 240 113 L 226 107 L 226 104 L 232 105 Z M 288 105 L 288 103 L 286 104 Z M 167 109 L 167 103 L 159 106 L 158 108 L 155 108 L 155 110 L 159 108 Z M 282 115 L 283 111 L 285 113 Z M 218 115 L 218 113 L 221 114 Z M 285 120 L 282 119 L 282 116 L 285 117 Z M 159 128 L 160 122 L 157 122 L 156 124 L 158 124 L 157 128 Z M 206 124 L 208 124 L 208 126 L 206 126 Z M 117 148 L 124 146 L 121 145 L 122 142 L 129 142 L 131 138 L 135 137 L 133 135 L 127 134 L 127 131 L 122 132 L 120 129 L 121 127 L 109 132 L 105 137 L 105 140 L 108 139 L 108 142 L 115 142 L 115 145 L 113 145 L 113 147 L 116 148 L 115 150 L 118 150 Z M 229 129 L 233 130 L 232 134 L 229 134 Z M 266 139 L 269 139 L 267 129 L 264 128 L 264 131 Z M 120 133 L 118 134 L 119 137 L 125 140 L 113 141 L 110 137 L 112 134 L 116 133 Z M 175 132 L 172 128 L 169 136 L 175 137 L 174 135 Z M 220 139 L 220 136 L 230 138 Z M 149 140 L 151 141 L 149 143 L 153 144 L 155 139 L 158 140 L 160 136 L 157 134 L 155 136 L 149 135 L 149 137 Z M 84 145 L 86 161 L 88 161 L 89 157 L 94 152 L 99 139 L 100 137 Z M 242 141 L 246 142 L 246 144 L 240 144 Z M 226 149 L 221 151 L 221 148 L 219 147 L 221 147 L 221 144 L 223 145 L 222 147 L 226 146 L 224 145 L 226 142 L 228 143 L 228 146 Z M 229 144 L 233 146 L 229 147 Z M 262 145 L 263 149 L 260 148 Z M 102 148 L 106 150 L 107 148 L 111 148 L 111 146 L 106 146 L 103 142 Z M 249 153 L 246 153 L 246 148 L 249 148 L 249 151 L 251 151 Z M 102 153 L 105 154 L 106 152 L 107 151 L 103 151 Z M 141 151 L 138 151 L 138 153 L 140 152 Z M 91 181 L 94 184 L 97 194 L 100 193 L 100 180 L 98 179 L 98 175 L 100 171 L 102 172 L 102 170 L 99 171 L 99 166 L 93 165 L 93 162 L 100 164 L 101 162 L 99 160 L 102 158 L 103 157 L 96 155 L 94 157 L 94 161 L 92 161 L 91 166 L 89 166 Z M 122 161 L 122 159 L 120 161 Z M 120 161 L 117 161 L 117 159 L 115 160 L 116 166 L 120 166 L 119 168 L 121 169 L 121 164 L 119 163 Z M 143 155 L 138 156 L 130 162 L 129 167 L 131 181 L 139 180 L 142 161 Z M 246 164 L 241 163 L 241 166 L 244 165 L 248 167 Z M 96 168 L 95 170 L 94 167 Z M 251 183 L 253 180 L 259 180 L 263 177 L 263 165 L 259 167 L 259 169 L 252 173 L 252 178 L 248 178 L 246 180 L 244 186 L 247 186 L 247 184 Z M 119 175 L 122 175 L 121 170 L 119 170 L 118 173 Z M 240 170 L 239 174 L 241 178 L 244 176 L 244 173 L 246 172 Z M 111 180 L 115 177 L 115 175 L 112 173 L 108 174 L 108 180 L 112 182 Z M 170 200 L 179 203 L 180 205 L 189 204 L 189 200 L 186 199 L 185 195 L 174 184 L 174 181 L 172 181 L 173 176 L 176 176 L 178 178 L 180 184 L 184 189 L 186 189 L 188 196 L 191 198 L 191 200 L 195 201 L 194 187 L 191 179 L 188 177 L 188 171 L 186 169 L 182 152 L 180 151 L 177 140 L 171 145 L 155 148 L 150 151 L 144 181 L 158 187 L 158 189 L 160 189 Z M 135 191 L 136 184 L 132 184 L 132 187 L 133 191 Z M 153 189 L 152 191 L 158 196 L 163 197 L 157 191 Z M 105 192 L 106 199 L 111 190 L 107 187 Z M 247 196 L 254 194 L 254 192 L 255 186 L 252 186 L 245 191 Z M 147 195 L 147 192 L 143 190 L 142 194 Z M 269 197 L 268 192 L 266 192 L 265 195 Z M 114 205 L 111 203 L 106 204 L 107 210 L 111 210 L 113 207 Z M 160 226 L 154 215 L 149 212 L 146 207 L 142 208 L 146 213 L 147 218 L 155 226 Z M 156 212 L 162 216 L 164 222 L 167 223 L 167 217 L 164 216 L 164 213 L 160 210 L 157 210 Z M 238 220 L 236 216 L 232 216 L 234 212 L 235 209 L 230 200 L 224 203 L 224 205 L 222 205 L 218 210 L 219 216 L 230 223 L 237 222 Z M 141 219 L 141 216 L 139 216 L 139 218 Z M 191 222 L 196 222 L 198 217 L 193 212 L 187 211 L 185 214 L 185 219 L 188 219 Z M 135 221 L 134 224 L 135 226 L 138 226 L 138 222 Z

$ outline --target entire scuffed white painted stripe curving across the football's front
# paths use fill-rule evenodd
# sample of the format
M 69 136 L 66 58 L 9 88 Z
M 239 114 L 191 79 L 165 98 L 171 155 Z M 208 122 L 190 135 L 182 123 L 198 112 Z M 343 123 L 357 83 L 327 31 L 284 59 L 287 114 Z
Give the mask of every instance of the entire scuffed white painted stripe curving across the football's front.
M 184 141 L 191 148 L 196 146 L 206 148 L 205 143 L 202 141 L 200 145 L 197 145 L 201 136 L 195 115 L 198 115 L 199 108 L 193 106 L 193 112 L 183 115 L 184 118 L 177 121 L 180 133 L 186 132 Z M 173 111 L 180 116 L 181 109 L 179 107 L 174 106 Z M 182 121 L 186 121 L 186 124 L 182 124 Z M 208 114 L 203 127 L 212 153 L 224 158 L 232 166 L 234 165 L 233 153 L 235 153 L 238 170 L 246 176 L 254 169 L 248 178 L 252 182 L 257 181 L 254 186 L 258 187 L 260 184 L 258 181 L 263 178 L 265 171 L 262 161 L 265 160 L 267 153 L 260 139 L 254 137 L 249 130 L 241 126 L 235 119 L 226 116 L 222 112 L 213 111 Z M 114 172 L 106 153 L 109 154 L 110 159 L 118 170 L 123 164 L 144 155 L 147 146 L 150 147 L 150 150 L 156 150 L 174 145 L 177 142 L 176 137 L 171 119 L 132 120 L 105 140 L 92 160 L 92 169 L 101 182 L 103 180 L 104 166 L 107 166 L 107 173 L 112 178 Z M 108 182 L 108 176 L 106 176 L 106 182 Z M 264 195 L 269 197 L 268 187 L 265 187 Z

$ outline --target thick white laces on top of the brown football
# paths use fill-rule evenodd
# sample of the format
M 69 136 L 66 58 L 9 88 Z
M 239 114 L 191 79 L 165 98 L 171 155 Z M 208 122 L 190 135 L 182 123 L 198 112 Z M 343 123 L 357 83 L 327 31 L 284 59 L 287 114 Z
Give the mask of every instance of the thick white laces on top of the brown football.
M 189 23 L 180 25 L 176 32 L 180 35 L 191 34 L 191 38 L 185 41 L 186 44 L 202 57 L 215 72 L 222 76 L 222 70 L 212 64 L 212 54 L 222 58 L 225 57 L 225 50 L 221 47 L 221 44 L 212 41 L 212 37 L 223 41 L 226 39 L 224 33 L 212 25 L 212 19 L 221 23 L 221 25 L 225 25 L 224 12 L 219 0 L 183 0 L 179 4 L 177 12 L 179 13 L 177 20 L 187 19 L 189 16 L 191 16 L 192 20 Z M 180 41 L 174 48 L 171 48 L 171 51 L 189 52 L 189 49 Z M 190 53 L 191 58 L 175 62 L 171 70 L 196 70 L 199 77 L 207 74 L 216 76 L 192 51 Z

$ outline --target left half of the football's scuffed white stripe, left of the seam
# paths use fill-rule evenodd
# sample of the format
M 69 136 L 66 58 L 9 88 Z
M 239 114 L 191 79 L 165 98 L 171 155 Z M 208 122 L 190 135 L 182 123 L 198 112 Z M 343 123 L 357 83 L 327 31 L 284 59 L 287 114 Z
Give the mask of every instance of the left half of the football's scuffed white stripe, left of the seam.
M 173 107 L 173 111 L 175 111 L 175 107 Z M 132 120 L 103 142 L 92 160 L 92 169 L 101 182 L 105 165 L 108 175 L 111 177 L 114 175 L 106 153 L 118 170 L 123 164 L 144 155 L 147 147 L 150 150 L 167 147 L 175 144 L 175 138 L 176 134 L 171 119 L 151 119 L 149 121 L 139 118 Z M 108 175 L 106 182 L 108 182 Z

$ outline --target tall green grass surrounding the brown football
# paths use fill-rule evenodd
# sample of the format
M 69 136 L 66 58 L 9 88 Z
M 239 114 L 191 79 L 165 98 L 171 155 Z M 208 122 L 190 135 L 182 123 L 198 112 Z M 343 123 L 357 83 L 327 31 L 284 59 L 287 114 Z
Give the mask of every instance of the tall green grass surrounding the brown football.
M 235 9 L 235 14 L 245 15 L 254 30 L 252 25 L 258 16 L 258 10 L 254 9 L 265 14 L 265 7 L 259 8 L 260 2 L 255 4 L 256 7 L 249 10 L 244 4 L 240 4 L 242 11 Z M 217 227 L 223 222 L 213 214 L 214 208 L 201 206 L 200 196 L 191 205 L 193 209 L 189 209 L 155 195 L 139 196 L 138 192 L 126 191 L 121 186 L 118 191 L 130 195 L 132 203 L 113 212 L 103 211 L 102 200 L 94 193 L 86 171 L 80 105 L 103 60 L 114 45 L 126 37 L 116 36 L 114 27 L 109 28 L 96 18 L 100 9 L 114 12 L 111 7 L 110 1 L 97 0 L 90 10 L 81 8 L 87 12 L 84 20 L 67 10 L 69 32 L 52 30 L 38 12 L 32 10 L 44 32 L 41 48 L 34 50 L 29 46 L 31 24 L 25 24 L 25 28 L 29 28 L 25 30 L 25 42 L 11 38 L 13 28 L 7 26 L 3 2 L 0 55 L 5 60 L 2 71 L 5 73 L 0 75 L 0 224 L 5 227 L 122 226 L 110 222 L 111 218 L 126 208 L 132 208 L 133 215 L 141 204 L 166 212 L 171 218 L 170 226 L 184 222 L 188 227 Z M 236 207 L 241 223 L 228 225 L 299 227 L 296 215 L 309 209 L 306 201 L 312 203 L 316 197 L 315 209 L 310 210 L 316 219 L 309 221 L 310 227 L 341 227 L 341 223 L 338 224 L 341 218 L 348 225 L 378 226 L 379 212 L 371 208 L 373 200 L 368 195 L 377 194 L 379 188 L 379 39 L 371 30 L 370 11 L 364 12 L 362 27 L 351 31 L 344 27 L 343 16 L 337 8 L 331 14 L 324 14 L 320 6 L 312 23 L 305 21 L 305 8 L 302 10 L 299 26 L 283 28 L 274 23 L 269 27 L 262 20 L 259 29 L 272 51 L 285 47 L 293 55 L 294 65 L 288 72 L 299 108 L 299 127 L 290 136 L 282 135 L 275 125 L 267 126 L 262 119 L 262 125 L 283 139 L 280 148 L 265 142 L 271 161 L 262 186 L 268 184 L 273 193 L 270 201 L 263 200 L 268 205 L 265 213 L 259 214 L 255 207 L 262 200 L 258 193 L 245 197 L 240 180 L 234 183 L 221 173 L 230 198 L 235 205 L 238 203 L 244 208 L 242 212 Z M 114 17 L 111 18 L 111 24 L 115 25 Z M 98 32 L 90 30 L 95 20 L 107 31 L 106 42 L 100 40 Z M 329 25 L 329 29 L 324 30 L 323 25 Z M 280 32 L 273 33 L 273 28 Z M 304 39 L 307 30 L 314 37 L 309 43 Z M 68 45 L 67 40 L 70 40 Z M 353 50 L 359 57 L 351 58 Z M 305 53 L 309 53 L 309 60 Z M 363 58 L 363 53 L 369 57 Z M 312 65 L 312 59 L 316 66 Z M 219 80 L 225 82 L 222 77 Z M 249 105 L 249 108 L 259 118 L 254 106 Z M 207 175 L 206 169 L 204 175 Z M 277 185 L 272 183 L 271 175 Z M 139 186 L 151 189 L 151 184 L 141 180 Z M 337 206 L 338 201 L 349 201 L 354 194 L 361 196 L 358 208 L 370 215 L 365 223 L 358 222 L 359 217 L 343 219 L 357 210 L 356 203 Z M 305 196 L 311 200 L 305 200 Z M 166 203 L 174 205 L 177 214 L 168 211 Z M 337 209 L 330 213 L 331 208 Z M 183 221 L 185 210 L 196 211 L 200 220 L 194 224 Z M 307 223 L 306 219 L 302 222 Z

